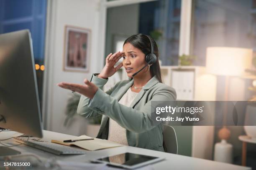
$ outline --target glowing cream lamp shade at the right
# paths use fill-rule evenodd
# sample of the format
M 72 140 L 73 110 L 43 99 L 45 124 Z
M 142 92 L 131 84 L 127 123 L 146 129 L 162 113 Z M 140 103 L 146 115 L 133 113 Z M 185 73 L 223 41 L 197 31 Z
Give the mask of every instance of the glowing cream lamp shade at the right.
M 236 47 L 207 47 L 206 70 L 214 75 L 245 75 L 251 68 L 252 49 Z

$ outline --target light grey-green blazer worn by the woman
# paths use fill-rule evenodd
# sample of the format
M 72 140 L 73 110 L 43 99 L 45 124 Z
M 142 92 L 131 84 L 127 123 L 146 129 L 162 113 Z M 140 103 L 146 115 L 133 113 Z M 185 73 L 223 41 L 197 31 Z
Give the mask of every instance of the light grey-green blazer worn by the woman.
M 108 139 L 109 117 L 126 129 L 129 146 L 164 151 L 163 125 L 152 125 L 151 101 L 176 100 L 176 92 L 172 87 L 159 82 L 152 77 L 135 97 L 130 107 L 118 103 L 125 92 L 133 85 L 132 80 L 123 80 L 115 84 L 107 92 L 102 91 L 108 82 L 93 74 L 91 82 L 99 89 L 90 99 L 81 96 L 77 113 L 84 117 L 102 115 L 102 121 L 97 138 Z

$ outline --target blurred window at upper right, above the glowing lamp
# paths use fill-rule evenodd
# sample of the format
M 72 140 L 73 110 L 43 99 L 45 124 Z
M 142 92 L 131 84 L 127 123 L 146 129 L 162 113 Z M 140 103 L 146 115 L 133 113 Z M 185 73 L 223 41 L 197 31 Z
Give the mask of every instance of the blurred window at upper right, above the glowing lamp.
M 194 0 L 191 53 L 205 65 L 206 48 L 256 50 L 256 0 Z

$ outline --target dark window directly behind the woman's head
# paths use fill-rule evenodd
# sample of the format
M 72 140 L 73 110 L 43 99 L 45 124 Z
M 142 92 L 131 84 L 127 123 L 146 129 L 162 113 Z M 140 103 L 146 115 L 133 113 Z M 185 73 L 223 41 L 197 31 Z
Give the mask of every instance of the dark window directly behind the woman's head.
M 180 8 L 181 0 L 156 0 L 109 7 L 105 56 L 115 52 L 121 40 L 143 33 L 156 40 L 162 65 L 178 65 Z

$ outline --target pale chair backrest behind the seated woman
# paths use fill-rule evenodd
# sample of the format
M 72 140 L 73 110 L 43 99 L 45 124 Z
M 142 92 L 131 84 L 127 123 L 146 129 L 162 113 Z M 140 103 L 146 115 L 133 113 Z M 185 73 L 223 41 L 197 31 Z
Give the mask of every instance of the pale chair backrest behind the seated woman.
M 174 128 L 164 125 L 164 152 L 178 154 L 178 142 Z

